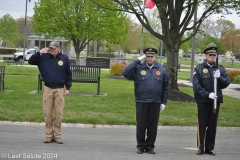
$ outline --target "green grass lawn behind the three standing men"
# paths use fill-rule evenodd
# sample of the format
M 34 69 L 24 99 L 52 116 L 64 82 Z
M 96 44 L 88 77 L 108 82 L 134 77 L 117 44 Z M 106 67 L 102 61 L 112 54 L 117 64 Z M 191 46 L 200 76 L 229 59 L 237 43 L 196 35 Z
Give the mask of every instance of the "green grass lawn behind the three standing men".
M 37 90 L 38 69 L 15 65 L 6 66 L 5 90 L 0 92 L 0 120 L 43 122 L 42 93 Z M 65 98 L 63 122 L 91 124 L 135 124 L 133 81 L 110 79 L 109 71 L 101 71 L 100 91 L 107 96 L 70 94 Z M 190 73 L 180 72 L 180 79 L 189 79 Z M 179 87 L 193 95 L 191 87 Z M 73 83 L 71 91 L 94 92 L 97 84 Z M 224 96 L 219 113 L 219 126 L 240 126 L 240 99 Z M 196 125 L 196 103 L 168 101 L 161 111 L 159 125 Z

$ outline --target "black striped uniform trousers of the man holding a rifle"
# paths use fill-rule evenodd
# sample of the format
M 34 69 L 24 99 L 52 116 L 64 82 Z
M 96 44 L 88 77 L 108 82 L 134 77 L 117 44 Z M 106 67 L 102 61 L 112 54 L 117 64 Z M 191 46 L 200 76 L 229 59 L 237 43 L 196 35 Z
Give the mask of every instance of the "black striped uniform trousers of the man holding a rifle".
M 220 103 L 217 103 L 216 113 L 213 113 L 213 102 L 197 104 L 197 147 L 199 150 L 214 150 L 219 107 Z

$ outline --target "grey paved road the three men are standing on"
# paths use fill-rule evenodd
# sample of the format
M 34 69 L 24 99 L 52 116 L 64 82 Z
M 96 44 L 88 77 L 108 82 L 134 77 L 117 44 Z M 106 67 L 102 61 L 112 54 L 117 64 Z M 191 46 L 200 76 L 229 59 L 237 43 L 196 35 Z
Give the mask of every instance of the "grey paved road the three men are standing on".
M 155 155 L 136 153 L 135 128 L 131 127 L 63 127 L 62 139 L 64 144 L 45 144 L 43 126 L 0 125 L 0 160 L 239 160 L 240 157 L 239 128 L 218 130 L 216 156 L 196 155 L 196 129 L 184 127 L 160 128 Z

